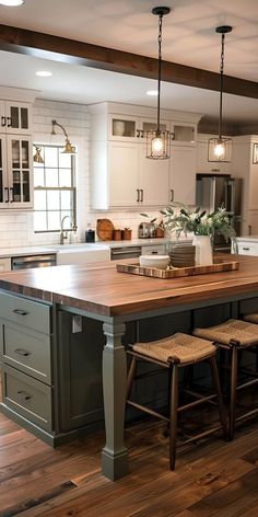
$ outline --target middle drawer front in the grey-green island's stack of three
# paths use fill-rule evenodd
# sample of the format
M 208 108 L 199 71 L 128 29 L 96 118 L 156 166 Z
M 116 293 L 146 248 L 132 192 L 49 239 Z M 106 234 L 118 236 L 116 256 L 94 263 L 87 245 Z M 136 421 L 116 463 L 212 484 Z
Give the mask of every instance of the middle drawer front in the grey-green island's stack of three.
M 50 384 L 50 336 L 2 321 L 2 359 L 14 368 Z

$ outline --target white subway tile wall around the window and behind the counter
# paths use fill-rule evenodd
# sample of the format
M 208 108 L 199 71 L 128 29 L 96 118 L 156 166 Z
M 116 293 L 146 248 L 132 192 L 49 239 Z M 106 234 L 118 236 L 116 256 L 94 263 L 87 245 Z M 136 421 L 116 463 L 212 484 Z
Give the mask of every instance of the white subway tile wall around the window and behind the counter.
M 63 145 L 64 136 L 59 128 L 51 135 L 51 120 L 64 126 L 69 138 L 78 147 L 78 240 L 84 240 L 87 223 L 95 228 L 96 220 L 108 218 L 115 228 L 131 228 L 137 237 L 138 225 L 142 220 L 139 212 L 93 212 L 90 210 L 90 114 L 86 105 L 56 101 L 36 100 L 33 104 L 33 141 Z M 149 212 L 151 217 L 157 212 Z M 0 246 L 24 246 L 59 242 L 58 233 L 34 233 L 33 210 L 0 210 Z

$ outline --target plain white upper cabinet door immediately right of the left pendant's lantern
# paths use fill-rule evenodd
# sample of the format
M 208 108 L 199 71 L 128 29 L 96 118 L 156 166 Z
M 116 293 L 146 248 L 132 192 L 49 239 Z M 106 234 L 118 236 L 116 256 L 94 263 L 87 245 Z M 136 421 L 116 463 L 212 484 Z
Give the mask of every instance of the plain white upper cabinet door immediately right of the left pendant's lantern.
M 171 152 L 171 188 L 174 200 L 196 203 L 196 148 L 173 146 Z

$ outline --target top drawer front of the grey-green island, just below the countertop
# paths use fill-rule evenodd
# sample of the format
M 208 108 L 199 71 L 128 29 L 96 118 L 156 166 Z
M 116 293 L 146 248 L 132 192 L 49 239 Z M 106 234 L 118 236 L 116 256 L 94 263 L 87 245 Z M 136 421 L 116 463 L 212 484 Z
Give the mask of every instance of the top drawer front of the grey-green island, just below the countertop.
M 0 292 L 0 318 L 44 334 L 50 332 L 50 307 L 26 298 Z

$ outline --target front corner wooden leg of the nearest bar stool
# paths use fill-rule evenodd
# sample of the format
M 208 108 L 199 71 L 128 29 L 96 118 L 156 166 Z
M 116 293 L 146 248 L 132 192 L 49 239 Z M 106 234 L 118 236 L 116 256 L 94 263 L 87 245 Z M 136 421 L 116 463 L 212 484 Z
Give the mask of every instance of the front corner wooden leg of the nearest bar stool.
M 177 406 L 178 406 L 178 367 L 176 364 L 172 364 L 171 365 L 171 405 L 169 405 L 169 420 L 171 420 L 169 468 L 171 470 L 175 470 L 175 463 L 176 463 Z

